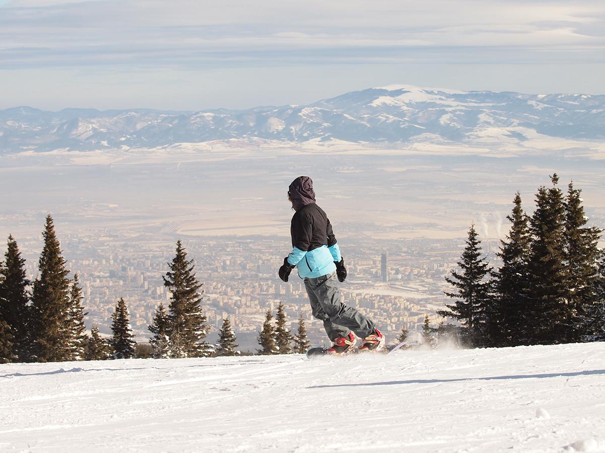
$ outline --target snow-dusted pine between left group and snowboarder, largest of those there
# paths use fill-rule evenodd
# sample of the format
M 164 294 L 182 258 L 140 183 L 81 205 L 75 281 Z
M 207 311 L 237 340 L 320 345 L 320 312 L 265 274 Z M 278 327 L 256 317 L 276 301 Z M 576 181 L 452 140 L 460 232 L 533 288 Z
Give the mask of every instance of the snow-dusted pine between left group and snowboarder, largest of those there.
M 195 278 L 193 260 L 177 241 L 177 251 L 166 272 L 164 286 L 171 291 L 169 306 L 169 337 L 172 357 L 203 357 L 210 354 L 208 343 L 203 341 L 210 327 L 200 309 L 200 289 L 203 283 Z

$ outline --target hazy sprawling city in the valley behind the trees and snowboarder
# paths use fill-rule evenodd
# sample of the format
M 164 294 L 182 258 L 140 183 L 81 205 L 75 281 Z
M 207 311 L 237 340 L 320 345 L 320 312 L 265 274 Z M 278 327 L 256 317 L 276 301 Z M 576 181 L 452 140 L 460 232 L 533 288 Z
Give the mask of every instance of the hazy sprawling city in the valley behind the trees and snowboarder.
M 162 275 L 174 255 L 174 243 L 150 236 L 126 240 L 111 234 L 72 233 L 61 239 L 68 267 L 80 277 L 87 327 L 96 324 L 101 333 L 110 333 L 111 314 L 116 301 L 123 297 L 137 341 L 145 342 L 155 308 L 160 303 L 169 304 Z M 204 283 L 201 307 L 213 326 L 209 339 L 215 339 L 222 320 L 228 317 L 240 350 L 254 352 L 267 309 L 275 315 L 281 301 L 293 333 L 302 316 L 312 344 L 327 341 L 321 322 L 312 321 L 302 280 L 294 272 L 288 283 L 277 277 L 283 257 L 275 250 L 285 249 L 287 238 L 189 237 L 183 243 L 188 256 L 195 260 L 198 279 Z M 31 276 L 36 275 L 41 245 L 38 237 L 19 243 Z M 378 243 L 358 239 L 344 241 L 342 247 L 348 251 L 349 277 L 340 285 L 345 301 L 371 316 L 391 341 L 402 327 L 421 329 L 425 315 L 436 327 L 439 320 L 435 310 L 444 301 L 443 277 L 455 268 L 462 241 Z

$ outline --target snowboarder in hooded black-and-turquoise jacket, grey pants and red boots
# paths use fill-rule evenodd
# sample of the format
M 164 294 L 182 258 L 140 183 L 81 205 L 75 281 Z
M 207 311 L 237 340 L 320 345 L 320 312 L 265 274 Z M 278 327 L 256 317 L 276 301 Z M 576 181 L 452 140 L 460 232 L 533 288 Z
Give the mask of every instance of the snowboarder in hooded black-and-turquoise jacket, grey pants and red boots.
M 356 336 L 362 339 L 360 352 L 383 349 L 384 335 L 374 323 L 342 302 L 336 278 L 342 283 L 347 278 L 347 269 L 330 220 L 315 204 L 313 181 L 309 176 L 299 176 L 292 181 L 288 200 L 296 211 L 290 225 L 293 249 L 280 268 L 281 280 L 288 281 L 292 269 L 298 268 L 299 277 L 304 279 L 313 316 L 324 321 L 325 332 L 333 342 L 327 350 L 329 354 L 352 352 Z

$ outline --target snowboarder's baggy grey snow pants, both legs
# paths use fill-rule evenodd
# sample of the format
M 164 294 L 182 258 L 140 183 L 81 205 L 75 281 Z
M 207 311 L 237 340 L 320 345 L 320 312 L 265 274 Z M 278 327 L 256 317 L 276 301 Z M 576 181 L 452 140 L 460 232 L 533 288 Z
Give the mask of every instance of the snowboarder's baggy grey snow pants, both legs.
M 332 341 L 347 336 L 350 330 L 359 338 L 365 338 L 374 330 L 374 323 L 342 302 L 336 281 L 336 272 L 304 279 L 313 316 L 324 321 L 325 332 Z

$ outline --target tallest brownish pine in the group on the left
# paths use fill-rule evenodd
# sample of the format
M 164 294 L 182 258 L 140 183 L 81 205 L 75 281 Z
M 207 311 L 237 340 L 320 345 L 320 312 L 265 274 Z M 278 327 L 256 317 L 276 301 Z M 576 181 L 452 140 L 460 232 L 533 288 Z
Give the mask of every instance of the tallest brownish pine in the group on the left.
M 42 237 L 44 248 L 38 265 L 39 275 L 34 281 L 31 295 L 32 358 L 40 362 L 62 361 L 67 353 L 65 326 L 70 305 L 70 280 L 50 214 L 46 217 Z

